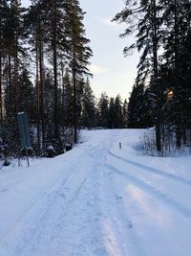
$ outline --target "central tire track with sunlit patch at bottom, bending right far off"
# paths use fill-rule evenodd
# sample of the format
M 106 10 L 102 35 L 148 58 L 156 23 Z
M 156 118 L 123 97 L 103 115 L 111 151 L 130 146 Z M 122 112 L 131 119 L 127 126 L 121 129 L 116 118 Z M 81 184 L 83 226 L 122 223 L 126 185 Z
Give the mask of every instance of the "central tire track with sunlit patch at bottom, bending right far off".
M 111 171 L 106 165 L 107 154 L 111 145 L 118 138 L 124 136 L 123 134 L 123 136 L 117 136 L 118 130 L 115 133 L 114 135 L 113 132 L 113 136 L 106 138 L 106 145 L 97 145 L 96 149 L 94 148 L 94 151 L 89 153 L 96 162 L 96 166 L 99 166 L 99 179 L 101 182 L 101 194 L 99 198 L 102 212 L 100 224 L 108 255 L 126 256 L 130 255 L 130 253 L 131 255 L 138 255 L 136 251 L 140 245 L 132 245 L 134 244 L 132 241 L 136 237 L 136 233 L 133 230 L 133 223 L 128 219 L 127 215 L 124 215 L 123 205 L 115 191 Z M 144 255 L 143 251 L 142 255 Z

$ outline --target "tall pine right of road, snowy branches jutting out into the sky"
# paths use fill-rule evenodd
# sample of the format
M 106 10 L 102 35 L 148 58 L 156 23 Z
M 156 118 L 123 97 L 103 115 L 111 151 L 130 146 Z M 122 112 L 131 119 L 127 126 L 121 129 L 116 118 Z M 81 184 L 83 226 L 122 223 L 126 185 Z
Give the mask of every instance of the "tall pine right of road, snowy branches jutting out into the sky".
M 161 7 L 156 0 L 149 1 L 126 1 L 125 9 L 117 13 L 114 21 L 125 22 L 128 28 L 121 36 L 131 35 L 135 31 L 138 32 L 137 44 L 134 43 L 130 47 L 124 49 L 125 55 L 129 51 L 138 48 L 142 51 L 142 55 L 138 64 L 138 81 L 150 79 L 154 86 L 156 95 L 156 146 L 157 150 L 161 151 L 160 145 L 160 102 L 159 102 L 159 40 Z

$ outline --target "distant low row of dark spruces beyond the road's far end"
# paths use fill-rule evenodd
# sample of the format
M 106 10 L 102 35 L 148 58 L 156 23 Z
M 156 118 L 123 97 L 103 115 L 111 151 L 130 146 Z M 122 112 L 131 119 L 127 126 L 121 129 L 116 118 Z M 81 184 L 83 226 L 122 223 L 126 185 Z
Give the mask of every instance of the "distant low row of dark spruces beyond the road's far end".
M 120 95 L 109 97 L 103 92 L 96 99 L 89 80 L 84 84 L 79 106 L 78 128 L 127 128 L 128 104 Z

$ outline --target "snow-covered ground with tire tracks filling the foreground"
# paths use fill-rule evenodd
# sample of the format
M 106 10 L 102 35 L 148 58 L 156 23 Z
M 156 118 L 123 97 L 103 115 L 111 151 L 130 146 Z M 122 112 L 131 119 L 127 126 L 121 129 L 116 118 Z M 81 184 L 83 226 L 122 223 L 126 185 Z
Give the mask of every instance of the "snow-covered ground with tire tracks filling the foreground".
M 1 169 L 0 256 L 190 256 L 191 157 L 140 156 L 140 132 Z

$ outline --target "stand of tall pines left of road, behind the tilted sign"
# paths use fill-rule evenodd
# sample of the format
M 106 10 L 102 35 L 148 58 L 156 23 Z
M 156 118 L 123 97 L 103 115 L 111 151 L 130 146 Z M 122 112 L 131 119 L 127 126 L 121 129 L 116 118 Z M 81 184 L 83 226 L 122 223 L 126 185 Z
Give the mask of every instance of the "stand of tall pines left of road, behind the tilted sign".
M 0 151 L 19 151 L 17 113 L 26 111 L 32 149 L 77 141 L 92 50 L 78 0 L 0 1 Z

